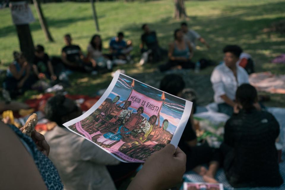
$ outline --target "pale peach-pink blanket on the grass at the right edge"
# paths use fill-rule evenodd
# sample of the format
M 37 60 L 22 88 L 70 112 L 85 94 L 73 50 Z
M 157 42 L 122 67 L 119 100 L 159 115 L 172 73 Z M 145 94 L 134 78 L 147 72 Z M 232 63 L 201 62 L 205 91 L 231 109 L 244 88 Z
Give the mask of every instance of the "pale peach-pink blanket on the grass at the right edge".
M 272 94 L 285 94 L 285 75 L 273 75 L 271 72 L 253 73 L 249 83 L 258 91 Z

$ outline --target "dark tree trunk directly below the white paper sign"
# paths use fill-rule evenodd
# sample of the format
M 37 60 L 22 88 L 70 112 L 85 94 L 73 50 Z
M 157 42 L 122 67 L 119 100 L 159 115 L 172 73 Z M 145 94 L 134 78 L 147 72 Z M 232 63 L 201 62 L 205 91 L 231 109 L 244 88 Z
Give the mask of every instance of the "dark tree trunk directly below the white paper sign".
M 27 60 L 31 62 L 34 58 L 35 48 L 29 24 L 16 25 L 16 29 L 20 42 L 20 49 Z

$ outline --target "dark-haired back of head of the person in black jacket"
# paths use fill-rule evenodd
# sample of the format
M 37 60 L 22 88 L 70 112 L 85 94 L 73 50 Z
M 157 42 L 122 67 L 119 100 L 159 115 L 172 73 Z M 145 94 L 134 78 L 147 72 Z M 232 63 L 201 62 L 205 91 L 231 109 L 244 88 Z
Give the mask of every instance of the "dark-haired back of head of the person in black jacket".
M 250 84 L 242 84 L 236 91 L 236 102 L 240 104 L 244 110 L 254 108 L 254 103 L 257 103 L 257 91 Z

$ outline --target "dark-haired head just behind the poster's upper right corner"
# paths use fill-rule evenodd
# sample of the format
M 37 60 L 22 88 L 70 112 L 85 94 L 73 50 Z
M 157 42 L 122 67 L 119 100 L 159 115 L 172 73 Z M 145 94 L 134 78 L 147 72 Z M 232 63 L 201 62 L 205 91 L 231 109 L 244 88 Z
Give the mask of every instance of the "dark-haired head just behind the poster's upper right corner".
M 181 92 L 185 88 L 183 78 L 176 74 L 165 75 L 160 81 L 159 89 L 172 94 L 174 96 L 181 96 Z

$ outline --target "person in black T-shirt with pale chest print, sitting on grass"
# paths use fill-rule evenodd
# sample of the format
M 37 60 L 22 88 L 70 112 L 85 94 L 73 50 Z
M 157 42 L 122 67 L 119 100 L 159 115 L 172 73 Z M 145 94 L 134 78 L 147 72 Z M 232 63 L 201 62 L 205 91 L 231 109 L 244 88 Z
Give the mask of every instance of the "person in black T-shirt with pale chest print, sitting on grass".
M 64 35 L 65 45 L 61 50 L 61 60 L 64 65 L 74 71 L 91 72 L 96 70 L 96 66 L 85 60 L 85 57 L 78 45 L 72 44 L 70 34 Z

